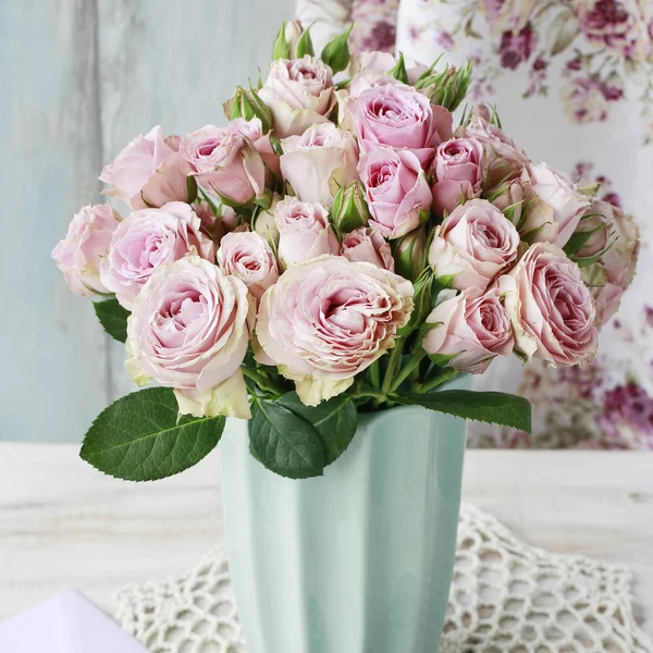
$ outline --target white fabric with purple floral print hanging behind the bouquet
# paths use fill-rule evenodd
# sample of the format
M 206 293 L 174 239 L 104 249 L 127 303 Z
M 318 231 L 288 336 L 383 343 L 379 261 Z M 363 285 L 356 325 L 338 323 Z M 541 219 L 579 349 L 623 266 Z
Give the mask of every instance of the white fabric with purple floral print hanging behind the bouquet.
M 473 101 L 495 103 L 533 160 L 601 183 L 640 225 L 638 274 L 594 362 L 496 360 L 476 386 L 527 396 L 533 434 L 475 423 L 471 445 L 653 448 L 653 1 L 355 0 L 350 17 L 360 50 L 392 50 L 396 30 L 419 62 L 471 59 Z

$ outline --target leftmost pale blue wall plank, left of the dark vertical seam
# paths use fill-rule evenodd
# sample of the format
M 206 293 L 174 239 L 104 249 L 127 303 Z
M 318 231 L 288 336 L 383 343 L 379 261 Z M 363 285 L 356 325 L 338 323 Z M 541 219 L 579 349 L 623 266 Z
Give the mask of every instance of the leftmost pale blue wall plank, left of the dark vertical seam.
M 96 8 L 0 3 L 0 440 L 79 440 L 108 399 L 107 340 L 50 258 L 99 199 Z

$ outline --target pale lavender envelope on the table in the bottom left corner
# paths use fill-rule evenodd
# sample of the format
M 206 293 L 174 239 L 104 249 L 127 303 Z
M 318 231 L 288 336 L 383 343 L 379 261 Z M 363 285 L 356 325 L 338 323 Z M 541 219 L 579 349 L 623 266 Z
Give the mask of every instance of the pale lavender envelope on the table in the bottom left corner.
M 67 590 L 0 624 L 0 653 L 148 652 L 76 590 Z

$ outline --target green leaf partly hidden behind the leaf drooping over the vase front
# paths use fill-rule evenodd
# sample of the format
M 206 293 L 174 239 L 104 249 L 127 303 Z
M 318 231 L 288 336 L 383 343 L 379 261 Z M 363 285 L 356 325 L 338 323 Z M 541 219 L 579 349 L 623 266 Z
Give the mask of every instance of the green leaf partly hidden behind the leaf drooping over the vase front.
M 349 395 L 340 395 L 319 406 L 305 406 L 294 392 L 278 402 L 310 422 L 326 447 L 326 465 L 337 460 L 356 434 L 356 405 Z

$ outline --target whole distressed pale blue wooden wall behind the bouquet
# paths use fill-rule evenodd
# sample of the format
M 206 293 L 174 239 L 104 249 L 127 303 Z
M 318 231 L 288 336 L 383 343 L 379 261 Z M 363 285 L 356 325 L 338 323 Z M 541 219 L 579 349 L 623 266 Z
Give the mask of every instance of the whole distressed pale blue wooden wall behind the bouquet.
M 220 124 L 293 0 L 0 0 L 0 440 L 79 441 L 133 390 L 50 259 L 97 175 L 160 123 Z

